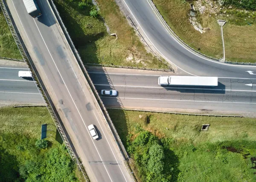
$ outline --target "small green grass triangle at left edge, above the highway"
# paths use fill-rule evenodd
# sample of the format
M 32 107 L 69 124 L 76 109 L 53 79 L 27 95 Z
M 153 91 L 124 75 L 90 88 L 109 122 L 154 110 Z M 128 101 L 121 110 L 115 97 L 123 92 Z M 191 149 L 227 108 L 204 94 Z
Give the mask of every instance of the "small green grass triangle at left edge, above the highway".
M 22 59 L 2 9 L 0 9 L 0 57 Z

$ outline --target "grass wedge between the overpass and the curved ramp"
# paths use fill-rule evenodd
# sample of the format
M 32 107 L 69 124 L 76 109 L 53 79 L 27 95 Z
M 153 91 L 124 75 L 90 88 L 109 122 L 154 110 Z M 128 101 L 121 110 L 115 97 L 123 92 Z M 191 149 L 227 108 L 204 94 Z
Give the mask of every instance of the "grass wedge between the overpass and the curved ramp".
M 81 2 L 89 3 L 81 6 Z M 90 11 L 95 8 L 90 0 L 55 0 L 55 5 L 84 63 L 167 68 L 146 52 L 114 0 L 97 2 L 100 10 L 95 18 L 90 16 Z M 117 34 L 117 40 L 108 34 L 102 17 L 110 32 Z

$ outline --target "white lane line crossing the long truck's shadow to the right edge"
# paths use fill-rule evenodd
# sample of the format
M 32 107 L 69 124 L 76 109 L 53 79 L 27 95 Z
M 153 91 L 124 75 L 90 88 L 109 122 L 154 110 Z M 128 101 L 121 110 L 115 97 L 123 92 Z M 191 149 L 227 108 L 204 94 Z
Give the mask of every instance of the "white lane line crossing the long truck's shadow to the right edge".
M 235 92 L 256 92 L 256 90 L 201 89 L 201 88 L 182 88 L 182 87 L 147 87 L 147 86 L 130 86 L 130 85 L 108 85 L 108 84 L 94 84 L 94 85 L 115 86 L 115 87 L 156 88 L 156 89 L 187 89 L 187 90 L 217 90 L 217 91 L 235 91 Z M 251 84 L 246 84 L 246 85 L 251 86 Z

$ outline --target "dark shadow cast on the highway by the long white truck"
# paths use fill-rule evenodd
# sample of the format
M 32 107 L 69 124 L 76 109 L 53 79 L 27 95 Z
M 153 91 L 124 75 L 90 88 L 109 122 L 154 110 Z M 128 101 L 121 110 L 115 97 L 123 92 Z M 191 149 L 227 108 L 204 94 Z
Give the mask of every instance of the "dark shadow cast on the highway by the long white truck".
M 225 94 L 226 86 L 218 82 L 216 87 L 198 87 L 198 86 L 162 86 L 166 90 L 172 90 L 182 93 L 213 93 L 213 94 Z

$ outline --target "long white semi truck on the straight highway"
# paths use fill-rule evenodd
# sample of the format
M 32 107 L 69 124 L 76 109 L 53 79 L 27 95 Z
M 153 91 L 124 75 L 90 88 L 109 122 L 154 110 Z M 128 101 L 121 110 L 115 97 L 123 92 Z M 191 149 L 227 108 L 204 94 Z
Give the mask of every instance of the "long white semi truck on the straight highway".
M 180 85 L 180 86 L 218 86 L 218 77 L 209 76 L 160 76 L 159 85 Z

